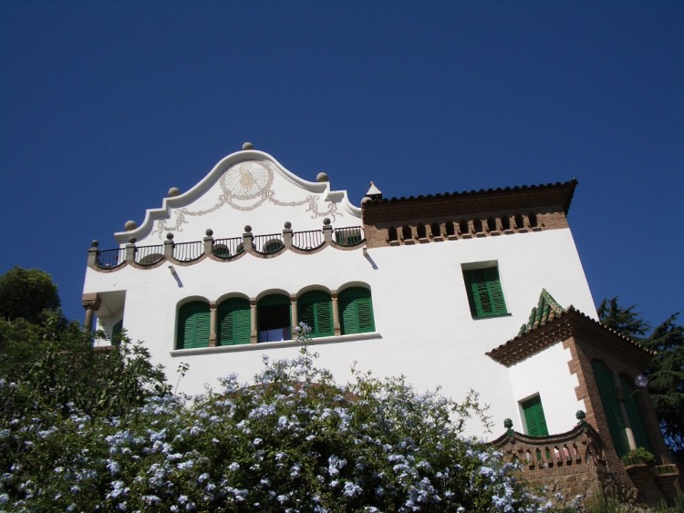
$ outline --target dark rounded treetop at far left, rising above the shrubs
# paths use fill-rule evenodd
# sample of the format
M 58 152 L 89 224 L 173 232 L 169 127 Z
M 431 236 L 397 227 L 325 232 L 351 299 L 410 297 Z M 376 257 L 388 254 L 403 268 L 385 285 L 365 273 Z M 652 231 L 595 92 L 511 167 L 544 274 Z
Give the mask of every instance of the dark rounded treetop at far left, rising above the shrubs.
M 44 310 L 59 308 L 57 285 L 47 272 L 15 267 L 0 276 L 0 317 L 39 322 Z

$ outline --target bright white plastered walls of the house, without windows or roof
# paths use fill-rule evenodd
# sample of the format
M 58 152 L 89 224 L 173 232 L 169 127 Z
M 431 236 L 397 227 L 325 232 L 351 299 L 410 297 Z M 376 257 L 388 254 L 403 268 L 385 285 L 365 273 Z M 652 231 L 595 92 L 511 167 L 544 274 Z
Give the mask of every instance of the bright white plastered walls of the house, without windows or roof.
M 449 184 L 445 184 L 448 187 Z M 115 235 L 124 247 L 135 237 L 138 247 L 202 241 L 207 229 L 215 238 L 242 236 L 245 225 L 254 235 L 281 233 L 285 221 L 294 231 L 321 230 L 324 218 L 334 228 L 362 225 L 362 211 L 346 192 L 329 182 L 309 182 L 285 170 L 269 155 L 239 151 L 223 159 L 188 192 L 163 200 L 148 210 L 132 231 Z M 473 319 L 462 266 L 495 263 L 509 315 Z M 575 397 L 576 377 L 568 370 L 569 354 L 555 344 L 507 368 L 485 353 L 510 340 L 528 322 L 542 289 L 568 307 L 596 319 L 594 302 L 569 229 L 528 231 L 498 237 L 425 244 L 340 249 L 300 254 L 285 249 L 269 258 L 243 254 L 220 262 L 204 258 L 179 265 L 161 262 L 142 269 L 86 272 L 84 294 L 98 293 L 98 322 L 107 330 L 123 320 L 133 340 L 145 341 L 155 363 L 170 380 L 179 364 L 190 364 L 181 390 L 200 393 L 204 384 L 230 373 L 248 381 L 262 367 L 262 357 L 293 357 L 294 342 L 241 344 L 176 349 L 178 310 L 191 299 L 220 302 L 232 295 L 259 300 L 270 292 L 297 296 L 317 288 L 328 292 L 362 284 L 372 294 L 376 331 L 337 335 L 311 341 L 319 364 L 341 382 L 358 370 L 374 375 L 405 374 L 419 391 L 440 386 L 456 400 L 469 390 L 490 405 L 494 434 L 503 419 L 523 431 L 519 403 L 540 395 L 551 433 L 575 426 L 575 411 L 585 409 Z M 491 437 L 480 426 L 470 435 Z

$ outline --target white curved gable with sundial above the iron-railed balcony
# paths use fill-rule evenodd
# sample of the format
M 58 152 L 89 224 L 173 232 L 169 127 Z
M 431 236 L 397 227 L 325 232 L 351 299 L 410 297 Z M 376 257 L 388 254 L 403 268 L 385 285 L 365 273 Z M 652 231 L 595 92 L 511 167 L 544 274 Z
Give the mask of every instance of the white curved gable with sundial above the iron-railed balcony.
M 216 238 L 239 236 L 245 225 L 258 233 L 278 233 L 285 221 L 296 231 L 320 230 L 323 219 L 338 226 L 356 226 L 361 210 L 346 190 L 330 190 L 329 181 L 307 181 L 285 169 L 271 155 L 245 149 L 228 155 L 191 190 L 164 198 L 161 209 L 147 210 L 145 220 L 114 236 L 160 243 L 168 233 L 174 241 L 199 241 L 207 229 Z

